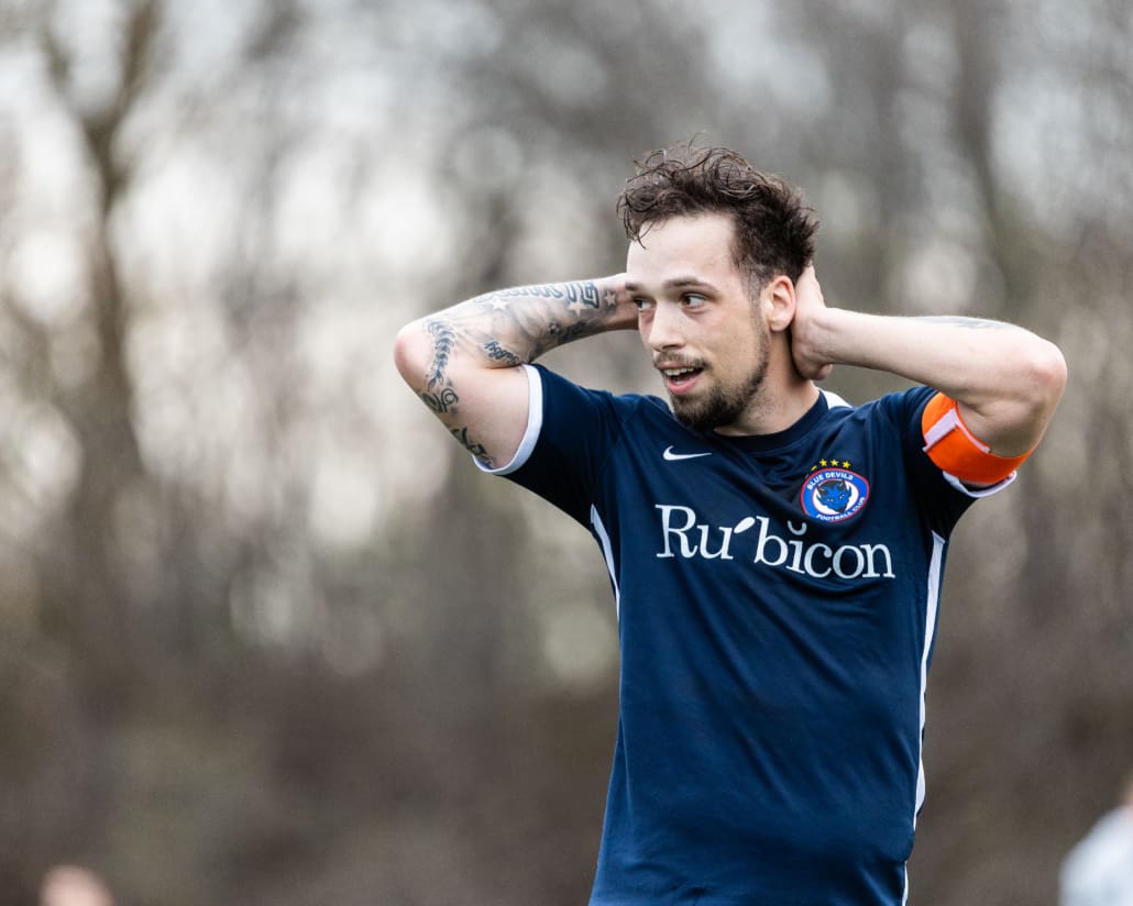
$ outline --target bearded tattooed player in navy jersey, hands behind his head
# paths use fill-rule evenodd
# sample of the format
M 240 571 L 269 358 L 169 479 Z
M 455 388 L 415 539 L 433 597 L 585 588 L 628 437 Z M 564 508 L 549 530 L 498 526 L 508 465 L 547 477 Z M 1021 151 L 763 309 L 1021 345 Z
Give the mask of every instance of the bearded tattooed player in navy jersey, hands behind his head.
M 898 904 L 946 540 L 1039 442 L 1063 358 L 1005 324 L 826 307 L 809 210 L 731 151 L 655 152 L 619 210 L 624 274 L 492 292 L 397 342 L 480 467 L 610 570 L 591 904 Z M 668 407 L 530 365 L 633 327 Z M 813 383 L 835 365 L 919 386 L 852 408 Z

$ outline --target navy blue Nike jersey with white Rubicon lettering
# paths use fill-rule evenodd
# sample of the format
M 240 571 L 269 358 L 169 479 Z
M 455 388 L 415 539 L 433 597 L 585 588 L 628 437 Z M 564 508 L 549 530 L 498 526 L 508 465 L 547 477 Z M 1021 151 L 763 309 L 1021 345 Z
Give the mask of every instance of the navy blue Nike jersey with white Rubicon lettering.
M 501 473 L 590 529 L 621 649 L 593 906 L 902 903 L 947 538 L 915 387 L 774 435 L 528 369 Z M 833 404 L 832 404 L 833 399 Z

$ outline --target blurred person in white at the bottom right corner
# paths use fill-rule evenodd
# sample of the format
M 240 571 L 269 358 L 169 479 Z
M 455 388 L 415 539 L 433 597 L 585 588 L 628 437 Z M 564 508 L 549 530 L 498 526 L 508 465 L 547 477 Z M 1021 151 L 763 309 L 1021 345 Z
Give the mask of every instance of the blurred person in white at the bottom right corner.
M 1121 802 L 1063 861 L 1060 906 L 1133 906 L 1133 773 Z

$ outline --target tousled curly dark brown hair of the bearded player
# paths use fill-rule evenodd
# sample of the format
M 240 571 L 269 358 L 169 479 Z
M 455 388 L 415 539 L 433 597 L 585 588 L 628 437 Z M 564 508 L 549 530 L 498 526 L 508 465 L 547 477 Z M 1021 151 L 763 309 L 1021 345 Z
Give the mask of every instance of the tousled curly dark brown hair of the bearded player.
M 649 226 L 670 217 L 727 214 L 735 225 L 733 258 L 747 268 L 755 290 L 776 274 L 796 281 L 813 259 L 813 210 L 783 179 L 757 170 L 734 151 L 689 142 L 634 163 L 637 174 L 617 198 L 630 240 L 640 242 Z

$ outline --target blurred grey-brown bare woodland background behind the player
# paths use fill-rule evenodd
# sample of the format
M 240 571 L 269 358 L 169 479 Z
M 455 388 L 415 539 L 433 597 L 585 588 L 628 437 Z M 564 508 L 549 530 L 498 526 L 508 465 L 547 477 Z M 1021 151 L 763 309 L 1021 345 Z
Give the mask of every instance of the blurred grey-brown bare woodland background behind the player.
M 1131 44 L 1127 0 L 0 0 L 0 903 L 586 901 L 604 565 L 391 343 L 620 271 L 632 160 L 699 135 L 801 187 L 832 305 L 1066 354 L 957 531 L 911 863 L 1054 904 L 1133 764 Z M 547 361 L 659 391 L 630 334 Z

